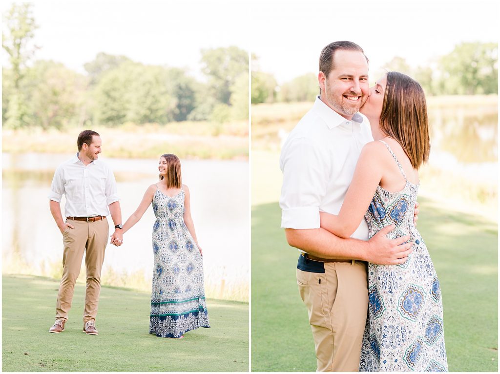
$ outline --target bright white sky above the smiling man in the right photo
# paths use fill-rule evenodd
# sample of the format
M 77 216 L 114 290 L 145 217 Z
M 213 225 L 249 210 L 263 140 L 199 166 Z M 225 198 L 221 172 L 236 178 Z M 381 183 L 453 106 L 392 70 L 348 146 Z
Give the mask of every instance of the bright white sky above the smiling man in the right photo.
M 250 48 L 278 83 L 318 71 L 321 49 L 335 40 L 359 44 L 370 72 L 394 56 L 410 66 L 450 52 L 461 41 L 498 42 L 498 1 L 254 1 Z M 376 79 L 376 77 L 371 77 Z M 371 80 L 371 79 L 370 79 Z

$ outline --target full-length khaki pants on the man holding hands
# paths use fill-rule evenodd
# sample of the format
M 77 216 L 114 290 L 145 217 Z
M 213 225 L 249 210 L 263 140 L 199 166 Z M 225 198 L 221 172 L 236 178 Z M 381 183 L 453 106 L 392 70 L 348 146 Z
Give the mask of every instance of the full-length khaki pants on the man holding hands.
M 86 288 L 83 323 L 95 321 L 100 293 L 100 271 L 104 261 L 109 225 L 107 219 L 95 222 L 66 219 L 74 228 L 67 228 L 62 233 L 64 252 L 62 255 L 62 278 L 57 293 L 55 318 L 67 320 L 71 308 L 74 283 L 80 273 L 81 260 L 85 252 Z

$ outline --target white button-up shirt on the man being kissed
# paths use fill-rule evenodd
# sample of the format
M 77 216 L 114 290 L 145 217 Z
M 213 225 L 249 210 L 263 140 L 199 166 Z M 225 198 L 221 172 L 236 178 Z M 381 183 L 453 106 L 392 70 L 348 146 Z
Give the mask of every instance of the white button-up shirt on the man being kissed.
M 320 211 L 338 214 L 361 148 L 372 140 L 366 117 L 347 120 L 316 97 L 281 149 L 281 227 L 318 228 Z M 351 236 L 368 239 L 364 219 Z

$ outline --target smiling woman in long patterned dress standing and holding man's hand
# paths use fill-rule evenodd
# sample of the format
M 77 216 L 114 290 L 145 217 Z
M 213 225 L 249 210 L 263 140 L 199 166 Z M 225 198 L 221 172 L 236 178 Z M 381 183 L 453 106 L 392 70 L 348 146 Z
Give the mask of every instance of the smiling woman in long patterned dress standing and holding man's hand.
M 202 251 L 196 239 L 189 205 L 189 189 L 181 184 L 175 154 L 159 159 L 159 182 L 151 184 L 123 233 L 139 221 L 152 202 L 154 256 L 149 333 L 182 338 L 184 332 L 210 327 L 203 286 Z

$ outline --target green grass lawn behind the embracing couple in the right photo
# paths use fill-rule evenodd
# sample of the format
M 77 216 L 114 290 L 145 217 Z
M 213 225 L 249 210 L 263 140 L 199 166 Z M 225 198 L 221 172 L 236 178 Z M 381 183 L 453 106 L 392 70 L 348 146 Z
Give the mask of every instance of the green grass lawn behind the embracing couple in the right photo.
M 418 229 L 441 284 L 449 370 L 496 372 L 497 225 L 418 201 Z M 280 214 L 277 202 L 252 207 L 251 368 L 314 371 L 314 343 L 295 280 L 298 252 L 286 243 Z

